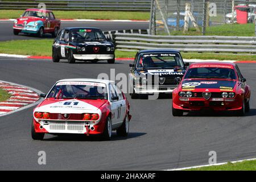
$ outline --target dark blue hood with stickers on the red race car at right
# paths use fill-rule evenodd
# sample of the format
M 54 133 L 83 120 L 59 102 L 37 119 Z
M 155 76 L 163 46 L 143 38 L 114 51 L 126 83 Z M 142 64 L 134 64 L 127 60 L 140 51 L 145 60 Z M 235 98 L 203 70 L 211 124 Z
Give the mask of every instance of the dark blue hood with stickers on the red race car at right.
M 217 79 L 187 79 L 183 80 L 181 86 L 183 89 L 228 89 L 233 90 L 236 80 L 217 80 Z

